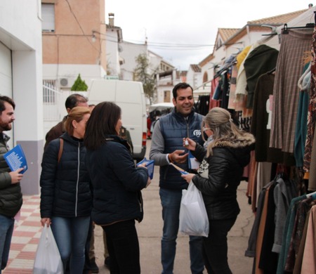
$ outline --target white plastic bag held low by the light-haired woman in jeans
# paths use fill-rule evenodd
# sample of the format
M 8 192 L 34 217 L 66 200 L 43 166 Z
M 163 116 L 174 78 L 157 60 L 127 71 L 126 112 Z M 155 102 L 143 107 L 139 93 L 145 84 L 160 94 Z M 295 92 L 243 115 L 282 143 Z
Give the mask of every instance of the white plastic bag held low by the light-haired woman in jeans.
M 62 260 L 51 231 L 45 224 L 34 260 L 33 274 L 63 274 Z

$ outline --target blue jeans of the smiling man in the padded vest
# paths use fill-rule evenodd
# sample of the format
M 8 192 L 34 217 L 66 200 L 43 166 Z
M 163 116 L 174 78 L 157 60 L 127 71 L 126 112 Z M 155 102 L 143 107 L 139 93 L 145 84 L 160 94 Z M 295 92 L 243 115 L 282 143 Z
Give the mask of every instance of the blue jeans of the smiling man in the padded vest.
M 160 188 L 162 201 L 162 219 L 164 228 L 162 234 L 162 274 L 173 273 L 173 263 L 176 256 L 176 239 L 179 229 L 179 214 L 182 190 Z M 190 236 L 190 268 L 192 274 L 203 273 L 202 237 Z

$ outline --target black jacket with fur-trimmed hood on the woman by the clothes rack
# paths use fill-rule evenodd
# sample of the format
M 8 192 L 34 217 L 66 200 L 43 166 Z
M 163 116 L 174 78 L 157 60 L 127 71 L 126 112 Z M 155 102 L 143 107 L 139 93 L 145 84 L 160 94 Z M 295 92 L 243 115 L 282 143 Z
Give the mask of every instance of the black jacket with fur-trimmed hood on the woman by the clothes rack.
M 192 152 L 201 163 L 198 175 L 192 182 L 201 190 L 209 220 L 234 218 L 239 214 L 237 187 L 242 180 L 244 167 L 250 162 L 254 149 L 254 136 L 237 140 L 221 139 L 213 147 L 213 155 L 204 158 L 206 151 L 201 145 Z M 206 172 L 204 178 L 202 172 Z M 208 172 L 208 174 L 207 174 Z

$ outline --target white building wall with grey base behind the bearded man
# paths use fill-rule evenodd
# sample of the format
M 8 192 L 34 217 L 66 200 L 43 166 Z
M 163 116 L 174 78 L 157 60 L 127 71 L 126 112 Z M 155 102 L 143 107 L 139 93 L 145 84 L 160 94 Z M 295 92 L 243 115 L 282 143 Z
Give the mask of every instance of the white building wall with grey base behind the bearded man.
M 39 193 L 43 154 L 41 1 L 0 1 L 0 42 L 12 52 L 12 97 L 16 103 L 12 145 L 20 143 L 28 170 L 24 194 Z

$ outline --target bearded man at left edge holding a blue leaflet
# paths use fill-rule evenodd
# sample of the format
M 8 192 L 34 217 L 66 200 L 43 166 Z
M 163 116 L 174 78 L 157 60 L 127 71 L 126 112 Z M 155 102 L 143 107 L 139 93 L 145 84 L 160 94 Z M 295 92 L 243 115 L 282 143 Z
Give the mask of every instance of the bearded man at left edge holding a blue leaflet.
M 11 171 L 4 159 L 8 152 L 8 137 L 4 131 L 12 129 L 15 103 L 7 96 L 0 96 L 0 274 L 8 263 L 14 217 L 22 207 L 20 181 L 23 169 Z

